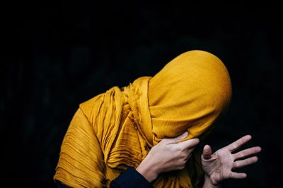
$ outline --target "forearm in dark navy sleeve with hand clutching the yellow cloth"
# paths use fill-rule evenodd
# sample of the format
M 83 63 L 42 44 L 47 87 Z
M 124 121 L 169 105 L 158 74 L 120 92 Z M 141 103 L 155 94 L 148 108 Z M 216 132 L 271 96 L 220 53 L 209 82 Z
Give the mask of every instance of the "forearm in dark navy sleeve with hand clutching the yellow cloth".
M 111 182 L 110 187 L 152 187 L 150 182 L 159 174 L 183 169 L 195 146 L 200 142 L 199 139 L 181 142 L 185 137 L 187 132 L 179 137 L 163 139 L 149 151 L 136 170 L 128 168 Z

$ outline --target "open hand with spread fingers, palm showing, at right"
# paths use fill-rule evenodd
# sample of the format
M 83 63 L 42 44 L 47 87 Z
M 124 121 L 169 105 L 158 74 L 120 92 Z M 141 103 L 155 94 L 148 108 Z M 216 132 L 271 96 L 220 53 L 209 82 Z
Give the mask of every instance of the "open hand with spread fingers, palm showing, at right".
M 257 162 L 258 157 L 256 156 L 248 157 L 246 159 L 243 158 L 260 152 L 261 148 L 259 146 L 255 146 L 238 151 L 238 153 L 232 152 L 239 149 L 243 146 L 243 144 L 246 144 L 250 139 L 250 135 L 241 137 L 241 139 L 238 139 L 236 142 L 217 150 L 213 154 L 209 145 L 204 146 L 202 153 L 202 168 L 206 177 L 214 186 L 225 179 L 242 179 L 247 176 L 246 173 L 235 173 L 232 170 Z

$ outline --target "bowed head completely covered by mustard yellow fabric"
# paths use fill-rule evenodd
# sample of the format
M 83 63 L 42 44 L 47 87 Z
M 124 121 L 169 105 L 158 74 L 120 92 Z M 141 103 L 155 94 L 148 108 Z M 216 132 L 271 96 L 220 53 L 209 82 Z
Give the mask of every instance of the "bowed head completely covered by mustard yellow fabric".
M 206 51 L 187 51 L 149 81 L 149 111 L 154 143 L 187 130 L 199 137 L 226 113 L 231 80 L 219 58 Z

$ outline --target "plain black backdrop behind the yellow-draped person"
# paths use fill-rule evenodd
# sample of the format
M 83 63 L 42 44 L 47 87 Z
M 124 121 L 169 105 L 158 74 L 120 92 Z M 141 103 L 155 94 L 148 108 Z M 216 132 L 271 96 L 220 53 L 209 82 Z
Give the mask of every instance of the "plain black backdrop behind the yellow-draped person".
M 8 187 L 55 187 L 60 144 L 79 104 L 152 76 L 191 49 L 219 56 L 233 82 L 230 111 L 206 143 L 219 149 L 251 134 L 248 146 L 262 146 L 259 162 L 243 168 L 248 178 L 226 187 L 272 187 L 280 180 L 276 5 L 24 1 L 1 9 L 0 172 Z

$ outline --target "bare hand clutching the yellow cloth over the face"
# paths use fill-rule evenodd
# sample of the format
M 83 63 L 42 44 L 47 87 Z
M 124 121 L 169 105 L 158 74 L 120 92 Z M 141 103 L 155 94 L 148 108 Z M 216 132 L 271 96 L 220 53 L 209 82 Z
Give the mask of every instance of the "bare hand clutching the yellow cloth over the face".
M 161 173 L 185 168 L 192 151 L 200 142 L 200 139 L 197 138 L 181 142 L 185 137 L 187 137 L 187 132 L 175 138 L 161 140 L 151 148 L 144 161 L 141 161 L 137 167 L 137 171 L 146 180 L 152 182 Z

